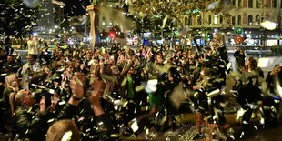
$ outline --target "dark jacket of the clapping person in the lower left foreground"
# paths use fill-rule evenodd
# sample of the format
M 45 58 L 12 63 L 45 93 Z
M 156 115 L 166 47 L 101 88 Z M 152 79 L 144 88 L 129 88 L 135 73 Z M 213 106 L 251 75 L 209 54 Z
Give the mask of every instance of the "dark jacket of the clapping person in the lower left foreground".
M 46 110 L 38 111 L 38 105 L 32 108 L 20 107 L 12 117 L 13 140 L 29 138 L 33 140 L 45 140 L 48 129 L 48 120 L 55 119 L 55 114 Z M 76 114 L 76 106 L 65 104 L 56 120 L 71 119 Z M 54 120 L 53 120 L 54 121 Z

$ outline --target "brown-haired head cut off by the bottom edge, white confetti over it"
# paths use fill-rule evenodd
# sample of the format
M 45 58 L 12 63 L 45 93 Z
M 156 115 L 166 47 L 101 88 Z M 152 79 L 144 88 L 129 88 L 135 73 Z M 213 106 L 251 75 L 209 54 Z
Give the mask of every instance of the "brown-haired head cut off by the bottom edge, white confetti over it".
M 80 140 L 79 130 L 73 120 L 65 119 L 55 122 L 47 131 L 46 141 L 61 141 L 63 136 L 69 141 Z

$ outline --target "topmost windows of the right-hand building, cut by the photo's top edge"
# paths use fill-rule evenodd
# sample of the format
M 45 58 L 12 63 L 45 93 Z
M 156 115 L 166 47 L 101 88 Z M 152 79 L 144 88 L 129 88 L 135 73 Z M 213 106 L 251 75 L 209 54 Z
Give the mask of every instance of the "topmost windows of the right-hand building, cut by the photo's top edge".
M 248 8 L 254 8 L 254 2 L 256 2 L 255 3 L 256 8 L 260 8 L 261 0 L 248 0 L 247 1 L 247 7 Z M 277 2 L 279 2 L 279 1 L 271 0 L 271 7 L 272 8 L 277 8 Z M 237 6 L 237 7 L 242 7 L 243 0 L 233 0 L 232 1 L 232 5 Z M 282 5 L 282 4 L 280 4 L 280 5 Z

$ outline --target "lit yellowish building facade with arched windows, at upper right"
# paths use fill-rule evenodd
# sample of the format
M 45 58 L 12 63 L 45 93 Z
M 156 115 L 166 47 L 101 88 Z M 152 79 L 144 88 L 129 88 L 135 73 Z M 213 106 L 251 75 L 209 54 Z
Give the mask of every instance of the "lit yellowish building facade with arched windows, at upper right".
M 215 33 L 217 31 L 226 34 L 228 46 L 237 46 L 234 42 L 234 33 L 236 27 L 241 27 L 243 33 L 240 35 L 244 41 L 240 45 L 247 47 L 270 47 L 274 45 L 282 45 L 279 32 L 281 25 L 278 25 L 279 19 L 279 0 L 231 0 L 231 10 L 224 9 L 222 13 L 227 12 L 231 16 L 214 15 L 210 13 L 199 12 L 196 15 L 184 15 L 185 25 L 190 28 L 202 29 L 200 35 L 202 40 L 205 35 Z M 277 23 L 275 30 L 267 30 L 261 26 L 264 21 L 272 21 Z M 280 27 L 279 27 L 280 26 Z M 279 43 L 278 43 L 279 42 Z

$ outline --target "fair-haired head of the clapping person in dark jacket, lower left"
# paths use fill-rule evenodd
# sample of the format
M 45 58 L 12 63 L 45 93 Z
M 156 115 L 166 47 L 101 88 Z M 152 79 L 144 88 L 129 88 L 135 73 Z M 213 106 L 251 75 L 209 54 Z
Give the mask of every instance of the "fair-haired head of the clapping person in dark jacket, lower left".
M 26 89 L 22 89 L 17 93 L 11 93 L 9 98 L 12 116 L 15 113 L 16 106 L 31 107 L 36 103 L 36 100 L 32 97 L 30 91 Z

